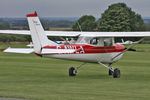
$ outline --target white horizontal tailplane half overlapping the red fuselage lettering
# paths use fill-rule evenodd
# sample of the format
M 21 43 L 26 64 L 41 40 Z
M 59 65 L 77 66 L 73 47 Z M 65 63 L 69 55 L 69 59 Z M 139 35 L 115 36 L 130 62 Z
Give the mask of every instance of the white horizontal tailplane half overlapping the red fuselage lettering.
M 74 53 L 75 49 L 42 49 L 41 54 Z

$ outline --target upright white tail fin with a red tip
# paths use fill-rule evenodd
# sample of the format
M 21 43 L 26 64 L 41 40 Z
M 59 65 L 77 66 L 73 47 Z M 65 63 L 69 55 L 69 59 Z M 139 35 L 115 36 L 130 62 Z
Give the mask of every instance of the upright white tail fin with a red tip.
M 34 14 L 27 14 L 28 24 L 36 53 L 41 52 L 41 48 L 47 45 L 57 45 L 53 41 L 49 40 L 44 32 L 41 22 L 35 11 Z

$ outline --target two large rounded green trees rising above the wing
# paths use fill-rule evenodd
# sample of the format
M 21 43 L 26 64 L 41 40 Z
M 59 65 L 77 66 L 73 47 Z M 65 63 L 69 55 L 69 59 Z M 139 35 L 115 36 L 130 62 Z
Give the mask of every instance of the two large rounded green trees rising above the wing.
M 145 31 L 146 25 L 140 14 L 125 3 L 112 4 L 96 20 L 92 15 L 82 16 L 73 26 L 74 31 L 128 32 Z

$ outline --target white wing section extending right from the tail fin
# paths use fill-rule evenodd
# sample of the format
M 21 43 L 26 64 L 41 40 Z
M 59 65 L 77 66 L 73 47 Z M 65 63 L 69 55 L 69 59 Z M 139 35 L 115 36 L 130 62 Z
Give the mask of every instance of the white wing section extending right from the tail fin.
M 150 32 L 75 32 L 45 31 L 48 36 L 87 36 L 87 37 L 150 37 Z

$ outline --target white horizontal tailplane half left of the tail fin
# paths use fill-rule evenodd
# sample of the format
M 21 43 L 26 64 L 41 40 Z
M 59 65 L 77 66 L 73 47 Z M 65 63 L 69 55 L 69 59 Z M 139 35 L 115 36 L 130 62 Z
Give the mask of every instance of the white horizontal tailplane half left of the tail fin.
M 3 52 L 29 54 L 29 53 L 34 52 L 34 49 L 32 49 L 32 48 L 10 48 L 10 47 L 8 47 Z

